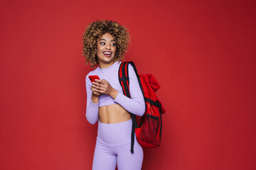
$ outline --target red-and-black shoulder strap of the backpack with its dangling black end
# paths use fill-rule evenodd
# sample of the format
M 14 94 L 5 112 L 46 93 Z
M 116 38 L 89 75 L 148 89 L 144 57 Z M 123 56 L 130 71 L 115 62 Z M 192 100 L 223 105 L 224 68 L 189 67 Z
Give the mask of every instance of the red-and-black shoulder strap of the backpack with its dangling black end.
M 119 67 L 118 77 L 119 77 L 119 83 L 122 86 L 124 95 L 131 98 L 131 95 L 129 93 L 128 64 L 132 64 L 132 67 L 134 67 L 134 71 L 137 74 L 137 78 L 139 79 L 139 75 L 138 75 L 138 72 L 137 72 L 134 62 L 122 62 Z M 139 81 L 139 86 L 142 87 L 140 81 Z M 134 133 L 135 133 L 135 129 L 138 128 L 138 125 L 137 125 L 136 115 L 134 115 L 132 113 L 130 113 L 130 114 L 131 114 L 131 118 L 132 118 L 131 152 L 134 153 Z

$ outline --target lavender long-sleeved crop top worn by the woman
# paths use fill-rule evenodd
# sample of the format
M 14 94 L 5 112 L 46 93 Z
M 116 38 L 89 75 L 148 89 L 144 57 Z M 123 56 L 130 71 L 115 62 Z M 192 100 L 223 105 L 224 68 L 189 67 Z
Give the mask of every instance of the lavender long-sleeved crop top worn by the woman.
M 118 69 L 121 62 L 114 62 L 110 67 L 97 67 L 92 72 L 89 72 L 85 78 L 86 92 L 87 92 L 87 108 L 85 116 L 89 123 L 95 124 L 98 120 L 98 112 L 100 106 L 108 106 L 112 104 L 119 104 L 129 113 L 142 116 L 145 112 L 145 102 L 142 90 L 139 87 L 137 75 L 134 72 L 132 65 L 129 64 L 129 91 L 131 98 L 124 96 L 122 86 L 119 84 Z M 88 78 L 90 75 L 97 75 L 100 79 L 107 80 L 110 85 L 119 91 L 117 97 L 114 99 L 109 95 L 101 94 L 98 103 L 92 102 L 92 90 L 90 87 L 92 83 Z

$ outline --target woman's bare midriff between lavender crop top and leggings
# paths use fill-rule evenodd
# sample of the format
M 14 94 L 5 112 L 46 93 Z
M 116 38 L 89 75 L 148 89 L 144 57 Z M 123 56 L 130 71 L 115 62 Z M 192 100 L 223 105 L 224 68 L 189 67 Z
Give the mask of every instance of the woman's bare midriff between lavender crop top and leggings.
M 99 120 L 101 123 L 121 123 L 131 119 L 131 115 L 119 104 L 100 106 Z

